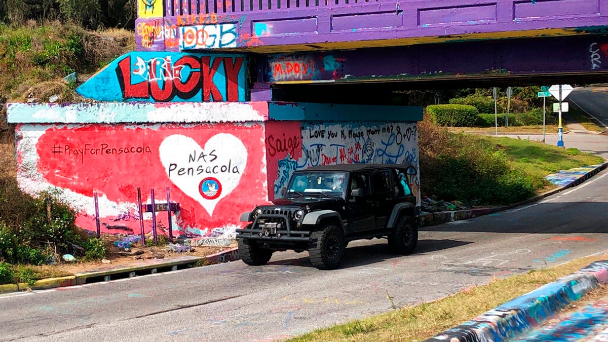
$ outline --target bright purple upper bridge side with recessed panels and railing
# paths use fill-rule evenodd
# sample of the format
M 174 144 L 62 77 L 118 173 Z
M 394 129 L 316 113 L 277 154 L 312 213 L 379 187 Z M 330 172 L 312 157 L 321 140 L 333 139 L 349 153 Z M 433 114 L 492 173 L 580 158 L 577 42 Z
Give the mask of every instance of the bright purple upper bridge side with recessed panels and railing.
M 167 0 L 164 5 L 164 18 L 137 19 L 138 50 L 310 51 L 576 35 L 608 27 L 608 0 Z

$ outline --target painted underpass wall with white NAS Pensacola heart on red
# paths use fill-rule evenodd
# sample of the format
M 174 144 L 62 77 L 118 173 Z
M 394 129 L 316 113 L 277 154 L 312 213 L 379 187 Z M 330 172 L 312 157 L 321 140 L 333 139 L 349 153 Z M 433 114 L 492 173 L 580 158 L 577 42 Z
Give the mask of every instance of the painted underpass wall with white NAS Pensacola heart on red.
M 150 189 L 166 203 L 169 187 L 181 208 L 176 235 L 204 236 L 241 226 L 240 213 L 274 198 L 296 169 L 396 162 L 418 170 L 418 107 L 13 103 L 8 112 L 18 124 L 19 186 L 58 194 L 89 230 L 97 192 L 103 232 L 139 231 L 137 187 L 144 203 Z M 410 176 L 414 189 L 419 179 Z M 151 214 L 144 220 L 150 230 Z M 166 212 L 156 220 L 168 226 Z

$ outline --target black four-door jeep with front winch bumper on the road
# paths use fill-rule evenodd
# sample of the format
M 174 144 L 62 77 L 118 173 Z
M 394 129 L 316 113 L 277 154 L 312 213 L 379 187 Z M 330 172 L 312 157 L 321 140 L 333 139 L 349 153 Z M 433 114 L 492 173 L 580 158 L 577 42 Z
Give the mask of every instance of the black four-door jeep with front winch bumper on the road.
M 295 171 L 283 198 L 241 215 L 238 254 L 265 265 L 274 251 L 308 250 L 320 270 L 339 267 L 349 241 L 386 237 L 394 253 L 418 242 L 416 197 L 407 169 L 392 164 L 348 164 Z

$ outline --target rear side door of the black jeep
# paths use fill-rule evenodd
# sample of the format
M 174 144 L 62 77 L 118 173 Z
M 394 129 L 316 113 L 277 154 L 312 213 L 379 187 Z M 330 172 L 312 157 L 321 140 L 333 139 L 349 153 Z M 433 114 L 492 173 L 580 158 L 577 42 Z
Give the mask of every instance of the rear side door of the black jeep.
M 395 204 L 395 190 L 390 170 L 383 169 L 371 173 L 371 191 L 376 227 L 384 228 Z

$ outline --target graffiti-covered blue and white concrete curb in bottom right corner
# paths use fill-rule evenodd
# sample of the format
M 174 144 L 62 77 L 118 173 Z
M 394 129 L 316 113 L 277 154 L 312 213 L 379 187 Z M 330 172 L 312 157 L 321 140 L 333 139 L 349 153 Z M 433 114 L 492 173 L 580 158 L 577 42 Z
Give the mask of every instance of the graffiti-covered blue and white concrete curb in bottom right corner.
M 543 324 L 573 301 L 608 281 L 608 260 L 530 291 L 461 324 L 427 342 L 504 341 Z

